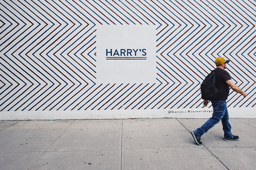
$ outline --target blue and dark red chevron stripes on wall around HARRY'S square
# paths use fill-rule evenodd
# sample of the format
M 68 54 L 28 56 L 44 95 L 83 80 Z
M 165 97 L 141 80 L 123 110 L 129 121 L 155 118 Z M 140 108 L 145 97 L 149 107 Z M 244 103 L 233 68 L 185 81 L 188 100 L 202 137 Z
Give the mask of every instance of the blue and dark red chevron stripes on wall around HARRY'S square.
M 256 104 L 255 0 L 1 0 L 0 111 L 202 108 L 216 57 Z M 97 25 L 157 26 L 157 83 L 97 84 Z M 211 106 L 209 106 L 211 107 Z

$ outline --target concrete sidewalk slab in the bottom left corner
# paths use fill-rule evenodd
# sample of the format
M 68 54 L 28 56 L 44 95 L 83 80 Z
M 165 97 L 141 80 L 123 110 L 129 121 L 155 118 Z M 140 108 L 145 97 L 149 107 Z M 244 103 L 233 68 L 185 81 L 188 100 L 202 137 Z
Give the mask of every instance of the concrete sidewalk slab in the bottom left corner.
M 0 169 L 28 169 L 43 152 L 0 154 Z

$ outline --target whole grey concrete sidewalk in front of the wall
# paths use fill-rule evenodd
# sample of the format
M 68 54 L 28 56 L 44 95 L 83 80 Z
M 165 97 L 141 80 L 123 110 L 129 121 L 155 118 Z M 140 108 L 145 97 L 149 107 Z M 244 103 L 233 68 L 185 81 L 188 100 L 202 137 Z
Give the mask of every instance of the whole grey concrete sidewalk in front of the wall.
M 206 119 L 0 122 L 0 169 L 255 169 L 256 119 L 230 119 L 197 145 L 190 132 Z

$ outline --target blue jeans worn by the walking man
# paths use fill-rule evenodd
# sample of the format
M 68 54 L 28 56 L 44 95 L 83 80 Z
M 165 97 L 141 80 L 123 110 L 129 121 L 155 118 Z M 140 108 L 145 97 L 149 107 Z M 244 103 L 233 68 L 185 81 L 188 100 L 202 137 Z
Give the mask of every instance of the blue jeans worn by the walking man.
M 194 133 L 201 138 L 201 136 L 207 132 L 210 128 L 215 126 L 218 122 L 222 122 L 224 138 L 230 139 L 233 138 L 231 133 L 231 125 L 229 123 L 229 113 L 227 110 L 226 101 L 213 100 L 211 101 L 213 107 L 212 117 L 207 120 L 203 126 L 199 127 Z

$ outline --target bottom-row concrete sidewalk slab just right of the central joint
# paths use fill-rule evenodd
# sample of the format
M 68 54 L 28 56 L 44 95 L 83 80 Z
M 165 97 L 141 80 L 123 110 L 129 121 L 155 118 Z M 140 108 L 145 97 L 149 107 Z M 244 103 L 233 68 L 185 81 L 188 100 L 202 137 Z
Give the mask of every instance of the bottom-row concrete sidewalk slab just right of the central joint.
M 195 156 L 196 155 L 196 156 Z M 122 169 L 225 169 L 207 149 L 129 149 L 123 150 Z

